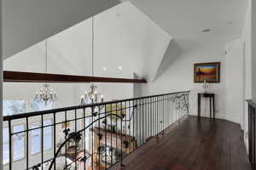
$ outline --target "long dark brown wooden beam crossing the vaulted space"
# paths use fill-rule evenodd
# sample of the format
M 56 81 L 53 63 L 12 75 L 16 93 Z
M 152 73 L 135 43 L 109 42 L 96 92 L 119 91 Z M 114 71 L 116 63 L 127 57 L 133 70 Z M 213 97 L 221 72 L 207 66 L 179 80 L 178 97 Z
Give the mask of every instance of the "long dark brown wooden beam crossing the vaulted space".
M 44 74 L 36 72 L 3 71 L 3 82 L 123 82 L 123 83 L 146 83 L 145 79 L 129 79 L 115 77 L 84 77 L 60 74 Z

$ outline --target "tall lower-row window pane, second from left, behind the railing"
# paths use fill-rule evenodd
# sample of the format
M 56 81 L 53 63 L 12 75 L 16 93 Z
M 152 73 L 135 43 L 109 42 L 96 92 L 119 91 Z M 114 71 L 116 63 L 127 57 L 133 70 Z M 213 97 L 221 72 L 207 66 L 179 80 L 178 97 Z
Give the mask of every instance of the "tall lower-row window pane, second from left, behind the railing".
M 14 161 L 18 161 L 25 156 L 25 139 L 24 133 L 19 133 L 24 131 L 24 125 L 16 125 L 14 126 Z

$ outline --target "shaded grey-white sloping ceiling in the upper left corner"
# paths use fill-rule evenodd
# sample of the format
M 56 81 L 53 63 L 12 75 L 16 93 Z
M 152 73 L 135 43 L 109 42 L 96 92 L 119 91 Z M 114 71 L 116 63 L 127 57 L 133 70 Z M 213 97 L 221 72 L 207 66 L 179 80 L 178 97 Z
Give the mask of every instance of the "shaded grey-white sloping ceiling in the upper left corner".
M 3 0 L 3 57 L 41 42 L 119 0 Z

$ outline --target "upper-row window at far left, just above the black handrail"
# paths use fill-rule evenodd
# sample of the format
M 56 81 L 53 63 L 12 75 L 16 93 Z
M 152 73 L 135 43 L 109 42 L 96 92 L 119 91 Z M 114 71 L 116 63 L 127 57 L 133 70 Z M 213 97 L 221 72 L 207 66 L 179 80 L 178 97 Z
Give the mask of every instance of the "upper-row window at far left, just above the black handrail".
M 26 112 L 26 100 L 11 99 L 3 100 L 3 116 L 16 115 Z

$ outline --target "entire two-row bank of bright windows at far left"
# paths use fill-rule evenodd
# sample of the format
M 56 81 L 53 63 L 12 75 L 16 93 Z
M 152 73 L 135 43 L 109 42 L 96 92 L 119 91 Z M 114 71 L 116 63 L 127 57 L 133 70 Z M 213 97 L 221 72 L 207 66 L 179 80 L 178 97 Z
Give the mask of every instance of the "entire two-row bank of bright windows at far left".
M 54 109 L 54 102 L 38 103 L 31 101 L 28 105 L 25 99 L 11 99 L 3 100 L 3 116 L 11 116 L 26 111 L 44 111 Z M 44 120 L 44 126 L 51 125 L 51 120 Z M 25 130 L 26 124 L 13 126 L 12 138 L 12 156 L 13 161 L 19 161 L 25 157 L 25 133 L 19 133 Z M 41 122 L 33 122 L 31 128 L 41 127 Z M 44 127 L 44 150 L 52 149 L 52 127 Z M 37 154 L 41 152 L 41 139 L 42 131 L 41 128 L 32 130 L 31 132 L 31 154 Z M 9 163 L 9 128 L 3 127 L 3 164 Z

